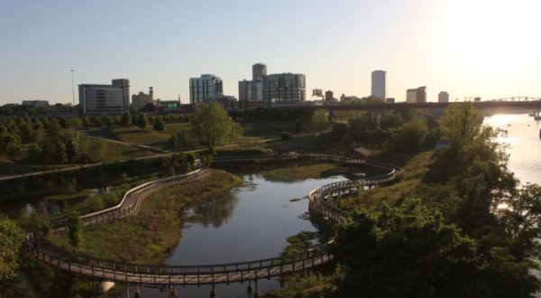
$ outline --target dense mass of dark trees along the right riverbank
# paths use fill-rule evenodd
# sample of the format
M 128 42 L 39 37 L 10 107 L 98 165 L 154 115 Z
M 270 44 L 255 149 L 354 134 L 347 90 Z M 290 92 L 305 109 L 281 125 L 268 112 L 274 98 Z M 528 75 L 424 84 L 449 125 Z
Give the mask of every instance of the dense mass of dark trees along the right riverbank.
M 530 297 L 539 290 L 541 187 L 518 186 L 472 104 L 440 121 L 449 147 L 397 202 L 338 229 L 333 297 Z M 502 208 L 502 204 L 508 208 Z

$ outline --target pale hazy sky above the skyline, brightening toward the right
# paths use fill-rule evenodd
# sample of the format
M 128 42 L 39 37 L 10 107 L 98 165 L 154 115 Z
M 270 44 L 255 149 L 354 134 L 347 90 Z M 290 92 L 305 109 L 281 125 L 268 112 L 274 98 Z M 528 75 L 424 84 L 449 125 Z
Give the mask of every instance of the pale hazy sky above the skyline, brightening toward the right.
M 188 103 L 188 78 L 212 73 L 238 97 L 252 64 L 296 72 L 335 97 L 427 87 L 429 101 L 541 98 L 539 0 L 191 0 L 0 2 L 0 104 L 71 102 L 76 85 L 130 79 L 131 93 Z M 76 87 L 76 103 L 77 87 Z

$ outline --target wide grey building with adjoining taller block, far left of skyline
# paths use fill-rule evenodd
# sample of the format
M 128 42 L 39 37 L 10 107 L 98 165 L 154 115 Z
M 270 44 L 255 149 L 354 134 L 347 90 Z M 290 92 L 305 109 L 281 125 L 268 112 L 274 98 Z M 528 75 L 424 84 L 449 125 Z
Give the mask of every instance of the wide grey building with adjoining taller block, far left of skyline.
M 111 85 L 81 84 L 78 88 L 84 115 L 121 115 L 129 109 L 129 79 L 113 79 Z

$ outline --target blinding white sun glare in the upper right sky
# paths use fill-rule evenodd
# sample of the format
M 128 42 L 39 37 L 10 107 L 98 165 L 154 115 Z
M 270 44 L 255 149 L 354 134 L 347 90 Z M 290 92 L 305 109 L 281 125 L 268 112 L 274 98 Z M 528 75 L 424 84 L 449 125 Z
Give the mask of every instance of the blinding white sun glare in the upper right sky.
M 536 53 L 540 11 L 539 0 L 449 1 L 442 22 L 449 62 L 472 78 L 505 81 L 525 75 L 541 61 Z

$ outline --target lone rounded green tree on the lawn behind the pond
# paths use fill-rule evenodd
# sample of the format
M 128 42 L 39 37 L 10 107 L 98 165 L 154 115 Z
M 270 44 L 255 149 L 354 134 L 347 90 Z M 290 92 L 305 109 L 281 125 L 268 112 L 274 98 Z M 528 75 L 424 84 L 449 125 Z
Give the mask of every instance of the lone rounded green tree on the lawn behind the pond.
M 216 145 L 232 142 L 242 135 L 242 130 L 219 103 L 203 102 L 190 118 L 190 134 L 206 142 L 208 152 L 214 154 Z

